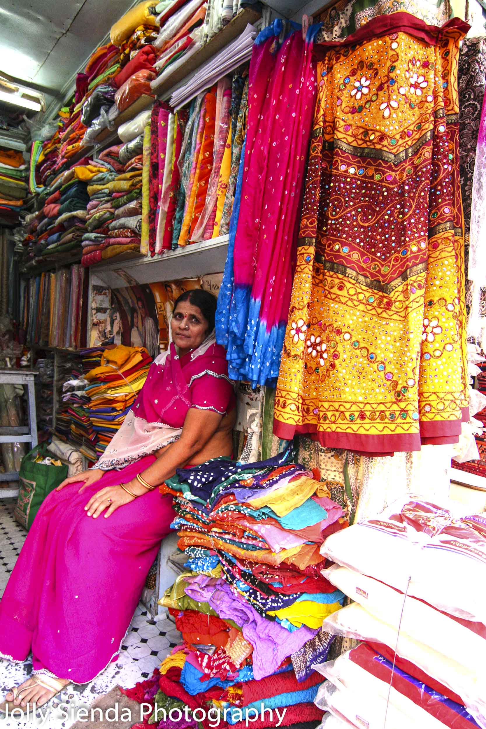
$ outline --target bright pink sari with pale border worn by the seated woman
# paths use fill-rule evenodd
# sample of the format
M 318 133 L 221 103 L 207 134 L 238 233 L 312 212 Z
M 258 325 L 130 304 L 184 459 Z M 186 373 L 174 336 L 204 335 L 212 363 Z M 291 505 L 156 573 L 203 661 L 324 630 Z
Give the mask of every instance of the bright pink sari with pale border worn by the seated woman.
M 101 488 L 128 483 L 148 468 L 169 431 L 173 440 L 181 432 L 189 408 L 227 413 L 234 406 L 225 351 L 213 337 L 181 359 L 173 345 L 157 357 L 132 412 L 97 464 L 113 468 L 109 463 L 117 459 L 122 468 L 107 470 L 81 494 L 80 482 L 53 491 L 39 509 L 0 602 L 1 657 L 21 662 L 32 651 L 34 673 L 74 683 L 94 679 L 117 659 L 146 575 L 170 530 L 172 499 L 150 491 L 108 519 L 87 517 L 85 504 Z M 151 445 L 140 448 L 135 459 L 122 444 L 128 439 L 131 445 L 139 421 Z

